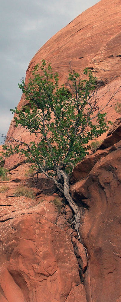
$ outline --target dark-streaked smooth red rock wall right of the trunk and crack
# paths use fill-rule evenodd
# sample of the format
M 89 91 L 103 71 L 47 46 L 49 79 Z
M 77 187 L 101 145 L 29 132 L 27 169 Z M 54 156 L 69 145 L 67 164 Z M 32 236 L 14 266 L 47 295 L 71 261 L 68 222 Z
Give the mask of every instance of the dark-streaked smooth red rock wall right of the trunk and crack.
M 100 149 L 100 157 L 97 151 L 90 173 L 83 178 L 80 171 L 82 179 L 71 186 L 72 197 L 85 207 L 80 224 L 89 257 L 84 285 L 87 301 L 93 302 L 121 300 L 121 140 L 110 148 L 105 154 Z

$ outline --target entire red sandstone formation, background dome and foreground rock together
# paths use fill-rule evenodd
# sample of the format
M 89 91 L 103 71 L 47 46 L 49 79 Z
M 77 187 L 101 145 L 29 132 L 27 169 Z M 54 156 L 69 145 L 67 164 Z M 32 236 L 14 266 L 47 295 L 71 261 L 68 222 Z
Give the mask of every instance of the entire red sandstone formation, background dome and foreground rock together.
M 119 89 L 108 109 L 108 119 L 117 118 L 120 11 L 121 1 L 102 0 L 79 15 L 34 56 L 26 82 L 43 58 L 59 72 L 60 83 L 70 60 L 79 72 L 90 67 L 102 85 L 100 104 Z M 23 104 L 24 96 L 18 108 Z M 30 140 L 13 121 L 8 135 Z M 121 302 L 121 118 L 70 178 L 70 192 L 82 217 L 81 242 L 72 225 L 72 210 L 45 176 L 32 177 L 29 164 L 15 156 L 5 167 L 10 173 L 9 179 L 0 180 L 0 302 Z M 31 188 L 34 199 L 14 196 L 20 186 Z

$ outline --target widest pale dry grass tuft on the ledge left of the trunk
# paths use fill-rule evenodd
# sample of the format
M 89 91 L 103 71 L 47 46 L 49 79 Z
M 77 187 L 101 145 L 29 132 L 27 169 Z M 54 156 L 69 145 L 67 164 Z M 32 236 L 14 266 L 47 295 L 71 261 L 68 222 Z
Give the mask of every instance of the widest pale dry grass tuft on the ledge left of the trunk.
M 23 186 L 18 186 L 14 192 L 14 196 L 20 197 L 20 196 L 25 196 L 31 199 L 35 199 L 35 194 L 34 191 L 23 187 Z

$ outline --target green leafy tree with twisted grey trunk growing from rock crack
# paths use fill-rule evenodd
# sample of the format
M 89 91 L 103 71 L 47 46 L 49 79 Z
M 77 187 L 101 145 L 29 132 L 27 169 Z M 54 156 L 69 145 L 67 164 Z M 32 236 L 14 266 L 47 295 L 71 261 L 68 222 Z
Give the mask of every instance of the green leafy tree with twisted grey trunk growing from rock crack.
M 41 70 L 41 75 L 39 74 Z M 58 74 L 51 64 L 35 66 L 28 85 L 24 79 L 18 87 L 28 104 L 21 110 L 12 109 L 16 127 L 24 127 L 35 139 L 30 143 L 8 138 L 4 156 L 19 153 L 31 162 L 36 173 L 44 173 L 61 191 L 75 214 L 74 225 L 78 232 L 80 211 L 69 193 L 69 174 L 73 166 L 88 154 L 88 142 L 109 129 L 105 107 L 99 107 L 97 78 L 84 69 L 80 75 L 71 69 L 68 75 L 70 92 L 64 85 L 59 88 Z M 79 235 L 79 232 L 78 232 Z

